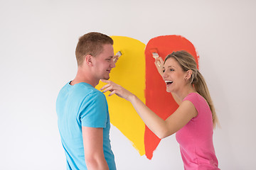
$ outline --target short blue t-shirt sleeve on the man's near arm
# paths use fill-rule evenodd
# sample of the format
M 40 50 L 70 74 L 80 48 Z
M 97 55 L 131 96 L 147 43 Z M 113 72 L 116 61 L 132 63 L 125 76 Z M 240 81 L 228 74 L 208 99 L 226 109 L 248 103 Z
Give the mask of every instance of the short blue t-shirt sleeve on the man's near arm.
M 80 111 L 82 126 L 106 128 L 108 112 L 107 101 L 102 92 L 95 91 L 89 94 L 82 102 Z

